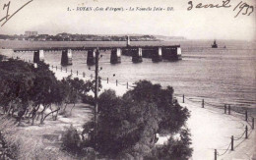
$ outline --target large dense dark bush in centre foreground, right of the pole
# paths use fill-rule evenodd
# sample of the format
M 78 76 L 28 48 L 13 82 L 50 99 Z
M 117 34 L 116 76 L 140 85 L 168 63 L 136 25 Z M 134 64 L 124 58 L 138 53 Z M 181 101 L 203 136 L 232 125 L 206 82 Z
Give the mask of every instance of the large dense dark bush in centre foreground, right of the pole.
M 97 145 L 94 147 L 101 155 L 121 159 L 151 156 L 156 149 L 157 133 L 180 133 L 182 138 L 171 137 L 168 148 L 187 149 L 177 152 L 177 156 L 191 155 L 189 134 L 182 132 L 189 112 L 173 99 L 170 86 L 163 89 L 160 84 L 140 80 L 122 97 L 117 97 L 113 90 L 105 90 L 99 96 L 98 112 Z M 175 154 L 169 156 L 175 157 Z

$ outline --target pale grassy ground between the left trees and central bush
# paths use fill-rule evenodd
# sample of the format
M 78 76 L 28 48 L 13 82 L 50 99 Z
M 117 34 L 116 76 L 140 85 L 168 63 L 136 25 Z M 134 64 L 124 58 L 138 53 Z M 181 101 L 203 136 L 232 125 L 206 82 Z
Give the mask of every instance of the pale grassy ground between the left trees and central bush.
M 72 105 L 67 106 L 68 113 L 71 107 Z M 35 125 L 31 126 L 25 120 L 21 127 L 14 127 L 13 122 L 8 122 L 7 131 L 9 135 L 12 135 L 8 136 L 8 140 L 19 143 L 19 159 L 74 159 L 67 153 L 62 152 L 61 134 L 70 125 L 81 132 L 82 126 L 91 117 L 90 106 L 78 104 L 69 118 L 58 116 L 57 121 L 52 121 L 51 116 L 48 116 L 44 125 L 39 126 L 39 121 L 35 121 Z

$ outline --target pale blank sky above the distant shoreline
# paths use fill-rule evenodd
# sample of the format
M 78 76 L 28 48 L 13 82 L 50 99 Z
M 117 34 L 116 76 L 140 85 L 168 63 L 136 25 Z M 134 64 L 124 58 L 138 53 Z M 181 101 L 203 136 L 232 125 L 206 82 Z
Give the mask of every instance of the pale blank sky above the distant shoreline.
M 6 16 L 2 10 L 10 2 L 9 15 L 30 0 L 0 0 L 0 20 Z M 184 36 L 188 39 L 241 39 L 255 40 L 256 11 L 250 16 L 237 18 L 240 0 L 229 0 L 229 8 L 195 8 L 202 4 L 223 4 L 224 0 L 193 0 L 193 9 L 188 11 L 189 0 L 32 0 L 14 15 L 0 34 L 24 34 L 26 30 L 39 34 L 60 32 L 83 34 L 153 34 Z M 255 0 L 243 0 L 254 6 Z M 241 3 L 242 4 L 242 3 Z M 71 11 L 67 11 L 68 7 Z M 77 7 L 123 7 L 123 12 L 76 11 Z M 130 7 L 161 7 L 164 11 L 127 11 Z M 173 11 L 166 11 L 172 7 Z M 74 9 L 74 10 L 73 10 Z M 251 10 L 248 10 L 248 13 Z M 3 24 L 3 22 L 1 22 Z

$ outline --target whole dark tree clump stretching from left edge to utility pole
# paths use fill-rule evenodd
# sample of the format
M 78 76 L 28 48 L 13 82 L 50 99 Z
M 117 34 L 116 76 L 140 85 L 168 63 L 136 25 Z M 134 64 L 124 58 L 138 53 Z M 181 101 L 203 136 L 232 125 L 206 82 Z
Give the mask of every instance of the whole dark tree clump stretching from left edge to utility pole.
M 38 119 L 40 116 L 42 124 L 50 114 L 58 114 L 64 103 L 75 106 L 82 95 L 92 90 L 91 81 L 71 77 L 57 80 L 48 65 L 39 62 L 37 66 L 34 68 L 32 64 L 14 59 L 0 61 L 0 107 L 4 114 L 17 117 L 19 124 L 25 116 L 29 121 L 32 119 L 32 125 L 35 117 Z M 44 112 L 52 109 L 52 105 L 57 107 L 45 115 Z

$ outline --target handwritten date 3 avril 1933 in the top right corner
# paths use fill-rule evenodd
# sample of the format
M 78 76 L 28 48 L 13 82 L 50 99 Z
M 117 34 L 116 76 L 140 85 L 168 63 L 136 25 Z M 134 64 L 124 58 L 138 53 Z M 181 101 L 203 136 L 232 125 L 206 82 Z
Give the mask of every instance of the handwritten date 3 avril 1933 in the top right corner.
M 225 1 L 223 1 L 222 4 L 202 4 L 202 3 L 198 3 L 195 8 L 196 9 L 202 9 L 202 8 L 205 8 L 205 9 L 207 9 L 207 8 L 230 8 L 231 5 L 229 5 L 229 3 L 230 3 L 230 0 L 225 0 Z M 192 10 L 193 7 L 194 7 L 193 2 L 189 1 L 188 5 L 189 5 L 189 7 L 187 8 L 187 10 L 188 11 Z M 240 13 L 242 13 L 242 15 L 250 16 L 254 11 L 253 6 L 248 5 L 247 3 L 242 2 L 242 1 L 234 7 L 233 11 L 235 11 L 236 9 L 238 10 L 238 12 L 234 16 L 234 18 L 236 18 Z

